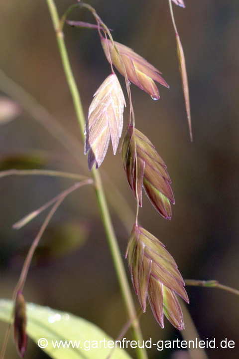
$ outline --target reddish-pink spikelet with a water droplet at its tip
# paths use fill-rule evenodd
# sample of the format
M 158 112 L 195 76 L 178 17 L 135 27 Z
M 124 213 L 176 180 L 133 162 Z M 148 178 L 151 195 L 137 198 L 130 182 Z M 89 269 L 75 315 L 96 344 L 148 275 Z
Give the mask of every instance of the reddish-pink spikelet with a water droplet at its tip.
M 154 100 L 159 99 L 159 91 L 154 81 L 161 85 L 169 87 L 166 81 L 160 76 L 161 72 L 147 62 L 143 57 L 136 54 L 131 48 L 115 42 L 116 48 L 111 40 L 104 37 L 101 38 L 102 46 L 108 61 L 114 64 L 117 70 L 124 76 L 124 67 L 128 76 L 128 80 L 138 86 L 141 90 L 147 92 Z

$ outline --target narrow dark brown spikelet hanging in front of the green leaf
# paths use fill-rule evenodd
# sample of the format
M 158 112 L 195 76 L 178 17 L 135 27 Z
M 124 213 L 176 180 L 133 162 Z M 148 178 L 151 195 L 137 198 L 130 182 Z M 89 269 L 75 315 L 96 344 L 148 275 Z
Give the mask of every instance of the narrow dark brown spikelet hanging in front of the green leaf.
M 14 342 L 21 358 L 24 357 L 27 345 L 26 334 L 26 304 L 21 291 L 17 292 L 14 307 Z

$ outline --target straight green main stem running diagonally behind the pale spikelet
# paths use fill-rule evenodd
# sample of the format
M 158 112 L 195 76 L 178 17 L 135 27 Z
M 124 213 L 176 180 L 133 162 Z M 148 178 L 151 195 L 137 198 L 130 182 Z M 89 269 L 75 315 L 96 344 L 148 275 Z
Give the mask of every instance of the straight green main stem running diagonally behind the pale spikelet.
M 58 30 L 59 25 L 60 25 L 58 12 L 57 12 L 54 0 L 46 0 L 46 1 L 47 1 L 49 10 L 50 10 L 53 26 L 56 31 L 57 42 L 58 42 L 58 47 L 59 47 L 59 51 L 60 51 L 60 55 L 61 55 L 61 59 L 62 59 L 63 68 L 64 68 L 67 82 L 68 82 L 68 85 L 69 85 L 69 88 L 71 91 L 73 103 L 74 103 L 75 110 L 76 110 L 77 119 L 78 119 L 78 122 L 80 125 L 81 134 L 82 134 L 82 137 L 84 140 L 85 139 L 84 138 L 85 117 L 84 117 L 84 113 L 83 113 L 80 95 L 79 95 L 79 92 L 77 89 L 77 85 L 76 85 L 76 82 L 75 82 L 75 79 L 74 79 L 74 76 L 73 76 L 73 73 L 71 70 L 69 58 L 67 55 L 64 37 L 63 37 L 62 32 Z M 103 224 L 105 227 L 105 231 L 106 231 L 108 243 L 110 246 L 113 262 L 115 265 L 115 269 L 116 269 L 116 273 L 117 273 L 125 309 L 126 309 L 128 318 L 130 320 L 132 320 L 132 326 L 131 326 L 132 327 L 132 335 L 133 335 L 134 340 L 142 342 L 142 334 L 141 334 L 141 330 L 139 327 L 137 314 L 136 314 L 136 311 L 134 308 L 133 299 L 131 296 L 126 273 L 124 270 L 121 254 L 119 251 L 119 245 L 117 242 L 116 234 L 115 234 L 115 231 L 114 231 L 114 228 L 112 225 L 112 221 L 111 221 L 108 205 L 106 202 L 106 197 L 105 197 L 99 170 L 96 171 L 95 169 L 92 169 L 92 177 L 95 181 L 95 190 L 96 190 L 96 196 L 97 196 L 97 200 L 98 200 L 98 204 L 99 204 L 99 209 L 101 212 L 102 221 L 103 221 Z M 147 354 L 146 354 L 145 349 L 137 348 L 136 352 L 137 352 L 138 359 L 147 359 Z

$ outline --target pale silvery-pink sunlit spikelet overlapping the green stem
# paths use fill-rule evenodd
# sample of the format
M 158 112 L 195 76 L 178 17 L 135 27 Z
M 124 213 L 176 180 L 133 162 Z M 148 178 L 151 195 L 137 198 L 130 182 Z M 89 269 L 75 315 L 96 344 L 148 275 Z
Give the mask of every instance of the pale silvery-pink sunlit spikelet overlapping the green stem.
M 88 167 L 94 163 L 98 169 L 108 150 L 110 138 L 114 155 L 123 128 L 123 107 L 126 106 L 119 80 L 115 73 L 109 75 L 94 95 L 85 127 L 84 153 L 88 151 Z

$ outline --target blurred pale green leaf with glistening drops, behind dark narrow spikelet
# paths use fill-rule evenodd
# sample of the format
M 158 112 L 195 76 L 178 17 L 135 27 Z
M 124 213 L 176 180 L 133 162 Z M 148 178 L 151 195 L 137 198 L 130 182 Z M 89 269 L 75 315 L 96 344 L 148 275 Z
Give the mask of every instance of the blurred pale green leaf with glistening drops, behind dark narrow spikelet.
M 27 334 L 39 347 L 42 346 L 42 350 L 49 357 L 54 359 L 106 359 L 111 353 L 111 348 L 107 347 L 107 343 L 112 338 L 85 319 L 32 303 L 27 304 L 26 310 Z M 12 302 L 0 300 L 0 320 L 11 322 L 11 312 Z M 69 348 L 63 346 L 54 348 L 52 342 L 56 345 L 56 341 L 58 344 L 60 341 L 63 343 L 71 341 L 72 344 L 75 343 L 75 348 L 73 345 L 70 345 Z M 114 350 L 111 358 L 130 359 L 129 355 L 120 348 Z

